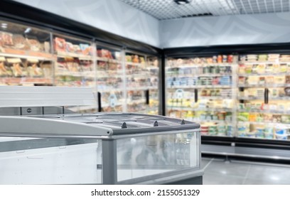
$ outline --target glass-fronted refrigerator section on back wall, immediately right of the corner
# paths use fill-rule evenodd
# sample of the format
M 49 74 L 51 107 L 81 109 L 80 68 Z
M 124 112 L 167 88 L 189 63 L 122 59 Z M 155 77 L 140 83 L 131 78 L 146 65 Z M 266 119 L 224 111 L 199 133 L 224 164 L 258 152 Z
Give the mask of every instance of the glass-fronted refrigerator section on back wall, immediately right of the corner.
M 234 58 L 232 55 L 168 58 L 166 114 L 200 123 L 204 136 L 233 136 Z

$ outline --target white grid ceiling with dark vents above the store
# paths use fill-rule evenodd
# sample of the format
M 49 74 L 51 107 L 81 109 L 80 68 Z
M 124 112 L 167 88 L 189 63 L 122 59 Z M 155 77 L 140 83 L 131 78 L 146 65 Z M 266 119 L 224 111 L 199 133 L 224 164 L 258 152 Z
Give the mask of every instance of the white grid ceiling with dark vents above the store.
M 166 20 L 198 16 L 270 14 L 290 11 L 289 0 L 119 0 Z

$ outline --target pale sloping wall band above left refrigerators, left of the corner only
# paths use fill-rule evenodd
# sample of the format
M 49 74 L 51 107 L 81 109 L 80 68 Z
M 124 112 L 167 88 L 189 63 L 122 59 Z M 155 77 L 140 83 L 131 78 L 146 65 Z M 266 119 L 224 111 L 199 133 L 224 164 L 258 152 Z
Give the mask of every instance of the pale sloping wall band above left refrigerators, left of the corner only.
M 119 36 L 159 46 L 159 21 L 118 0 L 14 0 Z

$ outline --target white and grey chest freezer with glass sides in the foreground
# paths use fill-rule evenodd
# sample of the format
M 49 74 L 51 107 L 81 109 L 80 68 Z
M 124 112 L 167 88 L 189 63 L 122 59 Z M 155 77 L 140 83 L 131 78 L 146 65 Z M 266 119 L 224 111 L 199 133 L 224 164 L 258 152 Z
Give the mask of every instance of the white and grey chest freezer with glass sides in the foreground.
M 194 122 L 98 113 L 1 116 L 0 125 L 0 184 L 202 184 Z

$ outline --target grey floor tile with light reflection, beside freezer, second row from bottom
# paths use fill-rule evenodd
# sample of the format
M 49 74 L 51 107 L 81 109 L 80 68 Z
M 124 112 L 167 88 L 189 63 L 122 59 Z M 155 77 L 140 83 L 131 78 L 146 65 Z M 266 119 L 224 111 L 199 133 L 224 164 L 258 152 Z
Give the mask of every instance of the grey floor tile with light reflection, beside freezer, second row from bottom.
M 239 176 L 245 178 L 247 171 L 249 170 L 249 164 L 245 163 L 232 163 L 222 160 L 216 160 L 210 162 L 205 168 L 205 173 L 220 174 L 223 176 Z

